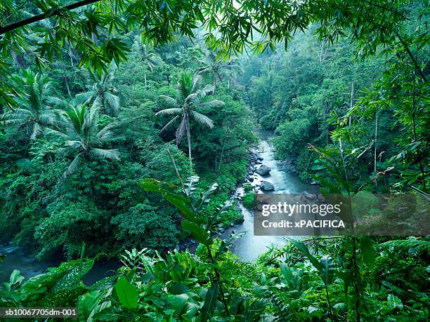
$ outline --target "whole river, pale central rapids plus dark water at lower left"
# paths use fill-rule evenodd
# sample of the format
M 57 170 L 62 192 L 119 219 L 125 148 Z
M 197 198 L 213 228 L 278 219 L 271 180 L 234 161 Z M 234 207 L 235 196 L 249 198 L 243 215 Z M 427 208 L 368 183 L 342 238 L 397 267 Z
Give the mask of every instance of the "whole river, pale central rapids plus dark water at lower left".
M 257 149 L 261 158 L 261 164 L 269 166 L 272 170 L 270 175 L 261 177 L 254 173 L 253 187 L 258 187 L 262 180 L 271 182 L 275 186 L 275 193 L 301 194 L 304 191 L 315 192 L 316 187 L 304 184 L 297 175 L 285 170 L 284 163 L 275 160 L 271 137 L 273 133 L 269 131 L 259 132 L 261 141 Z M 258 166 L 257 166 L 258 167 Z M 269 192 L 270 193 L 270 192 Z M 234 196 L 243 196 L 244 189 L 238 187 Z M 281 246 L 285 243 L 282 236 L 254 236 L 254 216 L 252 210 L 245 208 L 239 201 L 238 206 L 244 215 L 244 222 L 237 227 L 226 229 L 221 238 L 227 238 L 231 232 L 246 232 L 242 238 L 237 239 L 231 251 L 238 255 L 242 260 L 255 260 L 261 253 L 268 250 L 271 246 Z M 57 266 L 59 261 L 38 262 L 34 257 L 26 254 L 25 251 L 17 246 L 0 245 L 0 255 L 6 255 L 3 262 L 0 262 L 0 282 L 8 281 L 13 269 L 19 269 L 25 279 L 41 274 L 47 267 Z M 84 276 L 84 282 L 91 284 L 105 276 L 111 275 L 120 266 L 117 261 L 96 262 L 93 269 Z

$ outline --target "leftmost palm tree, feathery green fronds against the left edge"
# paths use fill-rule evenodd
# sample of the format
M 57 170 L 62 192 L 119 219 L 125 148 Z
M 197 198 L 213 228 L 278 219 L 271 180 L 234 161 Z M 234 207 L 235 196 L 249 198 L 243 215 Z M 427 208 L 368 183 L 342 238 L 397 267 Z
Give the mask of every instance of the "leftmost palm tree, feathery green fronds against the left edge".
M 1 121 L 5 125 L 18 125 L 18 129 L 25 128 L 31 140 L 41 135 L 44 128 L 58 125 L 58 115 L 61 111 L 52 107 L 65 103 L 49 95 L 52 79 L 34 74 L 30 69 L 21 69 L 20 75 L 13 76 L 13 82 L 21 93 L 15 98 L 18 107 L 1 116 Z

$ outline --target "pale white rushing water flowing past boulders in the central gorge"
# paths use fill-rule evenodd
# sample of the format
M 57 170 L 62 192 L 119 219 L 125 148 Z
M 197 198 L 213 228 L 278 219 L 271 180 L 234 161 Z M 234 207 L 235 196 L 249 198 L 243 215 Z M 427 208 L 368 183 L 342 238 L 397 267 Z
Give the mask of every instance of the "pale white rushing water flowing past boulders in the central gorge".
M 293 173 L 285 170 L 285 165 L 282 161 L 275 160 L 273 155 L 273 146 L 271 145 L 271 138 L 273 133 L 269 131 L 261 131 L 261 142 L 258 148 L 259 157 L 263 160 L 262 164 L 270 167 L 271 173 L 268 176 L 262 177 L 258 173 L 254 173 L 253 187 L 260 185 L 261 181 L 268 181 L 275 186 L 275 193 L 277 194 L 301 194 L 302 192 L 316 192 L 317 187 L 307 185 L 299 180 L 299 177 Z M 258 168 L 259 166 L 257 166 Z M 235 195 L 243 196 L 244 189 L 237 188 Z M 272 193 L 272 192 L 266 192 Z M 254 214 L 252 210 L 245 208 L 242 203 L 238 205 L 242 210 L 244 222 L 239 226 L 226 229 L 221 235 L 221 238 L 226 239 L 230 236 L 231 232 L 246 232 L 240 239 L 235 240 L 233 248 L 230 250 L 242 258 L 242 260 L 255 260 L 261 253 L 264 253 L 271 246 L 282 246 L 285 244 L 285 237 L 283 236 L 254 236 Z M 290 238 L 292 236 L 289 236 Z

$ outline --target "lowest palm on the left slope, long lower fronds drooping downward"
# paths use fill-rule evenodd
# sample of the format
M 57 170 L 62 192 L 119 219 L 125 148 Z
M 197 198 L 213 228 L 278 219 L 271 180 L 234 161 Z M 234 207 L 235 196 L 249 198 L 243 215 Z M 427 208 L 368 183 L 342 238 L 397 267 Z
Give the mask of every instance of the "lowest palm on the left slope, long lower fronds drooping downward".
M 48 130 L 48 133 L 65 139 L 66 152 L 74 155 L 73 161 L 67 166 L 60 181 L 74 173 L 79 165 L 91 158 L 105 158 L 119 160 L 117 149 L 102 149 L 100 146 L 112 137 L 112 124 L 98 129 L 98 108 L 87 108 L 81 104 L 70 108 L 63 114 L 65 126 L 61 130 Z

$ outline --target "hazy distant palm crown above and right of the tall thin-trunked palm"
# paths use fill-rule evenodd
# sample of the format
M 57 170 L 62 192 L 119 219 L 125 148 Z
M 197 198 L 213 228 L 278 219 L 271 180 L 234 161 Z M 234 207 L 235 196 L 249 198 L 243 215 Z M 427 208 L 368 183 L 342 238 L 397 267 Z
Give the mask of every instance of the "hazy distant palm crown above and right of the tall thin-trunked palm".
M 228 83 L 230 84 L 230 79 L 234 79 L 235 75 L 242 71 L 242 67 L 235 62 L 235 58 L 232 58 L 228 62 L 223 62 L 213 51 L 207 51 L 204 58 L 199 61 L 202 67 L 198 68 L 196 72 L 200 75 L 211 75 L 214 94 L 216 93 L 218 81 L 228 79 Z

